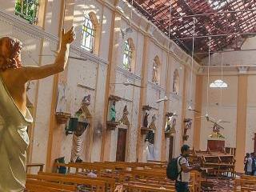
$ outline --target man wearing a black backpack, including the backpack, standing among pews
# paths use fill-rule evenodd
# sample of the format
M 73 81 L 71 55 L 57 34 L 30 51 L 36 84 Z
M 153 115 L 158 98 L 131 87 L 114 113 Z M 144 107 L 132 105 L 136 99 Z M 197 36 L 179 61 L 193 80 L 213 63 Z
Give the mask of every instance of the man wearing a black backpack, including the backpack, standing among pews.
M 190 166 L 188 157 L 190 155 L 190 146 L 183 145 L 182 154 L 178 158 L 169 162 L 166 174 L 167 178 L 175 180 L 175 189 L 177 192 L 189 192 L 190 171 L 198 170 L 199 166 Z

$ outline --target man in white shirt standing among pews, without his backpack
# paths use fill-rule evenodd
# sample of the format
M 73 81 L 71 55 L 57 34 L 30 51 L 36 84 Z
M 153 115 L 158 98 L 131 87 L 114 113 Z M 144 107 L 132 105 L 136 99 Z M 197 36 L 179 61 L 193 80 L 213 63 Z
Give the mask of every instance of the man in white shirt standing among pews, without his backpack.
M 178 178 L 175 182 L 177 192 L 189 192 L 190 171 L 198 170 L 198 165 L 190 166 L 188 157 L 190 155 L 190 146 L 183 145 L 181 156 L 178 158 Z

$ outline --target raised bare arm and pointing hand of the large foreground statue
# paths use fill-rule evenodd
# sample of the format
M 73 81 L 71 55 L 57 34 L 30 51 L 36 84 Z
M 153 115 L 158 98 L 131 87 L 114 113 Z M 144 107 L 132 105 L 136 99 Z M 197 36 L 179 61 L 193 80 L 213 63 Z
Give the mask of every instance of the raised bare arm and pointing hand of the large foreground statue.
M 58 56 L 55 62 L 46 66 L 25 66 L 22 67 L 22 80 L 28 82 L 30 80 L 37 80 L 46 78 L 53 74 L 58 74 L 66 68 L 66 63 L 69 57 L 70 43 L 75 39 L 74 27 L 72 27 L 67 33 L 62 30 L 61 48 L 58 51 Z

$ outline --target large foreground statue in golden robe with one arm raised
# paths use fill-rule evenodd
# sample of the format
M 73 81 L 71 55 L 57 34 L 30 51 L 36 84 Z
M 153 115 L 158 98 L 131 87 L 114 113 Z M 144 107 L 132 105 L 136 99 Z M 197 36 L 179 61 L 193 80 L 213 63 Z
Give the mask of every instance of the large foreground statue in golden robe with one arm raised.
M 23 192 L 26 183 L 27 126 L 33 118 L 26 108 L 26 82 L 58 74 L 66 68 L 74 28 L 62 30 L 55 62 L 46 66 L 22 66 L 22 42 L 0 38 L 0 191 Z

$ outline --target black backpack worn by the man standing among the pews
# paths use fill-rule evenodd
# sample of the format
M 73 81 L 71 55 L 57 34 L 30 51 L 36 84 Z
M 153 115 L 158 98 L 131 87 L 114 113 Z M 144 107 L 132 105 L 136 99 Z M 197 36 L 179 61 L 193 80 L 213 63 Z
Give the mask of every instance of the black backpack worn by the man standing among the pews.
M 180 172 L 178 172 L 178 164 L 181 166 L 180 161 L 181 161 L 182 157 L 179 156 L 178 158 L 173 158 L 167 165 L 166 168 L 166 175 L 167 178 L 169 178 L 170 180 L 177 180 L 178 175 L 182 173 L 182 170 Z

